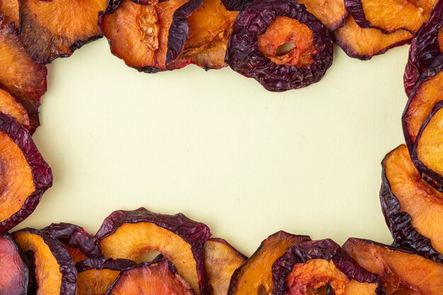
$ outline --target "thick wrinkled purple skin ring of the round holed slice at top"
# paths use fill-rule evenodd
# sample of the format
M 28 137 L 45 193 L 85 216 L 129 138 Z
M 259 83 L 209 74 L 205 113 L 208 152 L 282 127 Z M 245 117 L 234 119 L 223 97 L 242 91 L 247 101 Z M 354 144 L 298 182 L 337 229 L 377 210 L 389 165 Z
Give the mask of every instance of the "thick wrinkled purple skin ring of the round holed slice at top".
M 277 16 L 294 18 L 313 32 L 317 50 L 313 64 L 297 68 L 277 65 L 258 47 L 258 35 L 265 33 Z M 320 81 L 333 62 L 333 42 L 329 30 L 304 6 L 291 0 L 257 0 L 238 15 L 229 37 L 225 62 L 231 69 L 257 80 L 268 91 L 303 88 Z

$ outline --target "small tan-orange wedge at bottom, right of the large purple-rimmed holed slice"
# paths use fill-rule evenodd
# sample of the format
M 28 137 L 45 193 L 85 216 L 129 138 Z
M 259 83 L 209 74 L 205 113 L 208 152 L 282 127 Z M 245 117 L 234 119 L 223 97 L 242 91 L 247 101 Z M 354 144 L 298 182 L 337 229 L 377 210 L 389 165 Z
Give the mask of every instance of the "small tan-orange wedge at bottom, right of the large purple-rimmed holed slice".
M 210 238 L 203 246 L 212 295 L 226 295 L 232 274 L 248 258 L 222 238 Z

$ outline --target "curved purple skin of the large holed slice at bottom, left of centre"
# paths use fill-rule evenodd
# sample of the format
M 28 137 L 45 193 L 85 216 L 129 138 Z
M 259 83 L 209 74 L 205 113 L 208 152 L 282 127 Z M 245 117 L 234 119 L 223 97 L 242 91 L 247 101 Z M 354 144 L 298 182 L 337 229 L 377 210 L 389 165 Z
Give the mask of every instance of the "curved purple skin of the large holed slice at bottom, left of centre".
M 200 222 L 193 221 L 181 213 L 176 215 L 156 214 L 142 207 L 134 211 L 119 210 L 111 213 L 103 221 L 102 226 L 96 233 L 96 237 L 101 241 L 117 231 L 122 224 L 137 224 L 139 222 L 156 224 L 156 226 L 176 233 L 176 235 L 190 244 L 197 266 L 200 293 L 202 295 L 209 295 L 210 290 L 207 284 L 205 259 L 203 256 L 203 244 L 211 236 L 209 227 Z

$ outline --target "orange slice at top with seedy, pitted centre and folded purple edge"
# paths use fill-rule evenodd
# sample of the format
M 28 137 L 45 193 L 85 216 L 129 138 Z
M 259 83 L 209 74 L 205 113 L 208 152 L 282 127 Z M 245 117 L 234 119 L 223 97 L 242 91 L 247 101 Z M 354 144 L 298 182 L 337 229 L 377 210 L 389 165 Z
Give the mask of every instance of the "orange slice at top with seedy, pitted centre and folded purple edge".
M 202 0 L 144 4 L 115 1 L 100 13 L 98 22 L 111 52 L 127 66 L 148 73 L 164 71 L 182 52 L 188 39 L 188 17 Z

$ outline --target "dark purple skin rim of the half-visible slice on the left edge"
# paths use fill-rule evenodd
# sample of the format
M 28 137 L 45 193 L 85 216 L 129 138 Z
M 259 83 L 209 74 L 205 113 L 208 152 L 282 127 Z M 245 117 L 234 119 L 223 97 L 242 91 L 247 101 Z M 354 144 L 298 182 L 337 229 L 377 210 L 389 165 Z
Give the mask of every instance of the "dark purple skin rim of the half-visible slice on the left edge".
M 25 220 L 37 207 L 43 193 L 52 187 L 52 170 L 42 158 L 28 130 L 12 117 L 0 112 L 0 132 L 8 135 L 21 149 L 34 179 L 35 192 L 25 200 L 23 207 L 8 219 L 0 222 L 0 234 L 6 233 Z

